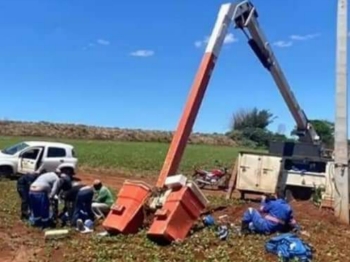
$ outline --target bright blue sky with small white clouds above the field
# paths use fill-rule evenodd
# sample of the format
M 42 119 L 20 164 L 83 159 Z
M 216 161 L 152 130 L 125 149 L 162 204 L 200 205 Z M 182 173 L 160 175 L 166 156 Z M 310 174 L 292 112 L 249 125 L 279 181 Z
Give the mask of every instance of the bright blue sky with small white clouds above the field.
M 176 128 L 219 0 L 0 1 L 0 118 Z M 336 1 L 256 0 L 259 22 L 309 118 L 334 119 Z M 230 30 L 194 131 L 239 108 L 294 126 L 242 32 Z

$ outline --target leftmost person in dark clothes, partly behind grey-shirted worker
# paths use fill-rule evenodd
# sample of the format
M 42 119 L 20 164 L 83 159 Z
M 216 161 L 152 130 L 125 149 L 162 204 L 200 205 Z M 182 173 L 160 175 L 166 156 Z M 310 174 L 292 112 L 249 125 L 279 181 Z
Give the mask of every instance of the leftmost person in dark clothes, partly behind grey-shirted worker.
M 21 220 L 29 219 L 30 208 L 29 208 L 29 190 L 30 185 L 35 179 L 41 174 L 41 171 L 35 171 L 33 173 L 27 173 L 22 175 L 17 180 L 17 192 L 21 199 Z

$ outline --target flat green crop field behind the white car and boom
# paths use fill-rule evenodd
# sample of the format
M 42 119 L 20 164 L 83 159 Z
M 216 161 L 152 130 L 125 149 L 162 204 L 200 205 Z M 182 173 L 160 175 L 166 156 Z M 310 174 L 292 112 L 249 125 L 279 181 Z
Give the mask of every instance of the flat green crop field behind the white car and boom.
M 152 142 L 107 142 L 96 140 L 53 140 L 45 138 L 0 137 L 0 148 L 24 140 L 67 142 L 75 146 L 79 164 L 90 168 L 119 171 L 158 172 L 165 159 L 169 144 Z M 229 146 L 188 145 L 181 172 L 191 172 L 195 165 L 211 168 L 215 160 L 231 168 L 242 148 Z

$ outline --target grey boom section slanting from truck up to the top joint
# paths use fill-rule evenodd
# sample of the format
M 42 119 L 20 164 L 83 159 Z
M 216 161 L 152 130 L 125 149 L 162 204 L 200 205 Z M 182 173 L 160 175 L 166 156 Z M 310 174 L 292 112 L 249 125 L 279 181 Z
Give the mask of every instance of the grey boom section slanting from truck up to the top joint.
M 289 111 L 292 113 L 297 124 L 297 135 L 300 141 L 306 143 L 318 143 L 319 136 L 308 121 L 306 114 L 298 104 L 283 71 L 275 58 L 275 55 L 266 40 L 262 29 L 257 21 L 258 13 L 249 1 L 236 5 L 233 14 L 233 21 L 236 28 L 239 28 L 248 38 L 248 44 L 260 60 L 264 68 L 272 75 L 276 85 L 282 94 Z

